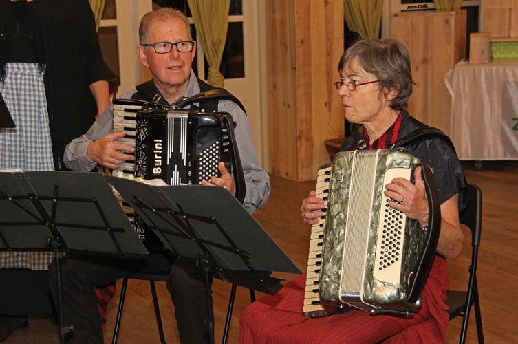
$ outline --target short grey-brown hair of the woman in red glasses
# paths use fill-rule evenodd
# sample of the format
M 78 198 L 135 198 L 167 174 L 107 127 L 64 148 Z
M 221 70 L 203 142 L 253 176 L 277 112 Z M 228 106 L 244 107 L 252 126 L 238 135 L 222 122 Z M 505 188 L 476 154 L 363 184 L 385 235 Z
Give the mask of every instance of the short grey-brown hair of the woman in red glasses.
M 338 63 L 338 73 L 343 67 L 352 69 L 357 65 L 379 80 L 380 94 L 391 91 L 398 94 L 391 100 L 391 109 L 407 107 L 412 94 L 411 58 L 407 45 L 398 39 L 363 39 L 347 49 Z

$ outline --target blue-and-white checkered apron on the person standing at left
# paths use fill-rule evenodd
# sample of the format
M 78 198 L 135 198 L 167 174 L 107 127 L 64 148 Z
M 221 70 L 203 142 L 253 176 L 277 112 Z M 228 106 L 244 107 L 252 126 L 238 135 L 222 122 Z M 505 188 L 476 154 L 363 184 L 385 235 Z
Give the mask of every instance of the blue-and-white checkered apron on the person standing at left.
M 43 74 L 36 63 L 7 63 L 0 92 L 16 124 L 0 128 L 0 170 L 54 171 Z M 0 268 L 47 270 L 53 252 L 0 252 Z

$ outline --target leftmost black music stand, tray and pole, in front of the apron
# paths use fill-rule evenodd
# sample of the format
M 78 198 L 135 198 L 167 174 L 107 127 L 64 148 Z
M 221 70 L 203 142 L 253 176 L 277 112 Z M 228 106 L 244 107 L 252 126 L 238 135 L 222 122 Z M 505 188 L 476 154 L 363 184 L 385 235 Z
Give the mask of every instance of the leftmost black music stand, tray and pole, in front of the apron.
M 60 340 L 61 263 L 65 252 L 137 259 L 148 252 L 104 175 L 80 172 L 0 173 L 0 251 L 56 255 Z

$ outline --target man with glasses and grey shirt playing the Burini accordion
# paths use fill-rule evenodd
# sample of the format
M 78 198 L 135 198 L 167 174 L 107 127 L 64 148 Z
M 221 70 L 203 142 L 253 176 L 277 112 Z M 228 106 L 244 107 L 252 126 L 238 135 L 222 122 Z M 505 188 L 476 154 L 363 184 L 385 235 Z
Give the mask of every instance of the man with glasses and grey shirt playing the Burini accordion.
M 121 98 L 160 101 L 171 105 L 181 97 L 187 98 L 208 89 L 191 69 L 196 43 L 185 15 L 172 8 L 160 8 L 145 14 L 140 22 L 140 61 L 149 67 L 153 79 L 139 85 Z M 192 107 L 191 107 L 192 109 Z M 253 147 L 250 122 L 235 102 L 219 100 L 217 111 L 228 112 L 237 123 L 236 142 L 241 152 L 245 189 L 243 205 L 250 213 L 263 204 L 270 193 L 270 180 Z M 119 138 L 125 131 L 113 132 L 113 106 L 94 122 L 89 131 L 73 140 L 65 151 L 65 164 L 74 171 L 91 171 L 98 164 L 114 169 L 133 160 L 135 149 Z M 219 162 L 220 178 L 213 176 L 203 184 L 225 187 L 234 195 L 233 175 Z M 52 264 L 56 264 L 54 261 Z M 102 343 L 102 329 L 98 320 L 94 286 L 104 285 L 135 272 L 169 272 L 167 289 L 175 305 L 175 317 L 182 343 L 208 343 L 208 310 L 205 275 L 200 266 L 166 253 L 145 256 L 138 262 L 100 257 L 67 257 L 61 267 L 63 281 L 63 316 L 74 330 L 70 343 Z M 55 266 L 50 286 L 54 302 L 58 301 Z

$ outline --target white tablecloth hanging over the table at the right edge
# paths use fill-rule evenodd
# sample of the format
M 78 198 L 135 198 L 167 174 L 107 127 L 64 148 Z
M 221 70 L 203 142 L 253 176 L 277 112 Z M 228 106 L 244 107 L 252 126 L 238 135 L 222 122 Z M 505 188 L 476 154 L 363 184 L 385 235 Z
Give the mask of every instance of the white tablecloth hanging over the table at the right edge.
M 451 94 L 450 138 L 460 160 L 518 160 L 518 60 L 461 61 L 444 83 Z

